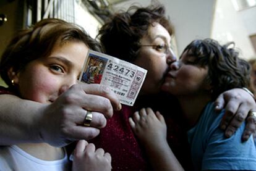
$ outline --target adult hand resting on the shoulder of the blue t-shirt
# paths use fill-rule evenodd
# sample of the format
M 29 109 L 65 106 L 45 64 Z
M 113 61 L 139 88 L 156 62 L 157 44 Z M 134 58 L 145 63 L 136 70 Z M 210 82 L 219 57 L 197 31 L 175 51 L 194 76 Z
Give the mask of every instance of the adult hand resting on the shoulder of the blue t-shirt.
M 254 138 L 256 138 L 256 118 L 247 117 L 249 111 L 256 111 L 255 100 L 249 93 L 241 88 L 225 91 L 216 99 L 215 105 L 216 111 L 226 109 L 220 127 L 225 130 L 227 137 L 232 136 L 247 118 L 242 140 L 248 140 L 250 135 L 254 135 Z

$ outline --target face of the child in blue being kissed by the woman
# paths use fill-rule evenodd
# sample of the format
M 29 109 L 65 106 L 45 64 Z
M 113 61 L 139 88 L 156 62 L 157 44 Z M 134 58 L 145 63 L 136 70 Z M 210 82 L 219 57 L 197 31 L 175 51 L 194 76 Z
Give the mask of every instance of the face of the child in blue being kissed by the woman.
M 205 93 L 205 90 L 210 89 L 206 81 L 208 67 L 196 65 L 195 57 L 190 56 L 187 51 L 169 67 L 162 86 L 163 91 L 176 96 L 189 96 Z

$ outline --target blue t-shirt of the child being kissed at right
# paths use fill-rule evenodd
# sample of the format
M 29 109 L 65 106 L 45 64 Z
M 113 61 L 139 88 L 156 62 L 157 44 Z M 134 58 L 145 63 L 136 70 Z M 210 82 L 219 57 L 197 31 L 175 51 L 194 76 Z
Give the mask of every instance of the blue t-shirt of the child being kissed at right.
M 230 138 L 219 128 L 224 110 L 214 111 L 213 102 L 194 128 L 188 131 L 192 162 L 195 170 L 256 170 L 256 143 L 250 136 L 242 142 L 245 123 Z

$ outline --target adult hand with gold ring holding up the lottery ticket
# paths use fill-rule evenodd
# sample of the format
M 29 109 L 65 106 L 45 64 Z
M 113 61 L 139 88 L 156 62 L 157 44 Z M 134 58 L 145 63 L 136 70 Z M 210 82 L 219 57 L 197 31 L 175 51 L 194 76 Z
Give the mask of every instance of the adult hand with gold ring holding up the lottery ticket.
M 121 104 L 109 88 L 80 83 L 71 86 L 51 105 L 45 107 L 39 123 L 43 141 L 53 146 L 64 146 L 74 140 L 89 140 L 106 126 L 106 118 Z M 92 112 L 90 127 L 83 125 L 87 111 Z

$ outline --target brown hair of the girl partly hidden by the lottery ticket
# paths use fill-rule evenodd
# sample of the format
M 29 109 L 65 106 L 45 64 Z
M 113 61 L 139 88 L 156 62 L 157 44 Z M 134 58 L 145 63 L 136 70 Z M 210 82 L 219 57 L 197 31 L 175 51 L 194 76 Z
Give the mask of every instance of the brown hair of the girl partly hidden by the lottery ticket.
M 60 19 L 44 19 L 36 23 L 33 28 L 20 30 L 15 34 L 0 62 L 0 74 L 9 88 L 14 86 L 8 77 L 9 69 L 18 72 L 32 60 L 46 57 L 53 51 L 56 44 L 69 41 L 81 41 L 88 48 L 101 51 L 101 46 L 83 28 Z

